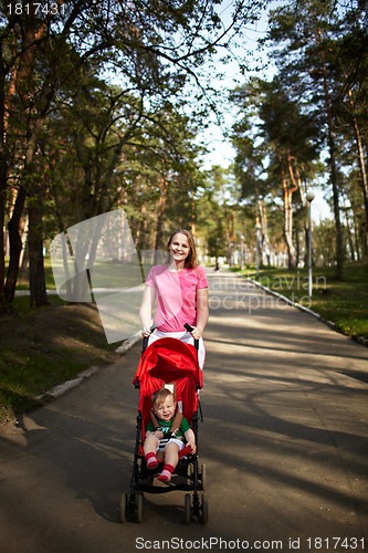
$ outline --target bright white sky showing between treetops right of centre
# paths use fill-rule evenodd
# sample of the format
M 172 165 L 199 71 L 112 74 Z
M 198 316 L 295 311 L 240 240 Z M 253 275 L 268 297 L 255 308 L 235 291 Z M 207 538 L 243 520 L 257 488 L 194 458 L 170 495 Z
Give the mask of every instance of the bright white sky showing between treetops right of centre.
M 271 3 L 271 8 L 274 8 L 276 4 L 280 4 L 280 1 L 274 1 Z M 225 20 L 227 18 L 231 17 L 231 0 L 225 0 L 222 2 L 219 12 L 221 13 L 221 17 Z M 255 53 L 256 49 L 256 41 L 261 36 L 264 36 L 267 30 L 267 12 L 263 13 L 262 18 L 260 21 L 257 21 L 255 24 L 249 25 L 246 28 L 245 36 L 242 41 L 243 46 L 241 45 L 239 49 L 235 50 L 235 54 L 239 58 L 244 58 L 246 59 L 250 58 L 249 51 L 252 50 L 254 51 L 254 60 L 255 56 L 259 54 Z M 264 54 L 266 56 L 266 53 Z M 266 61 L 266 60 L 264 60 Z M 264 71 L 262 74 L 265 77 L 272 77 L 272 74 L 274 73 L 274 67 L 272 64 L 269 64 L 267 69 Z M 244 82 L 245 77 L 242 76 L 239 72 L 239 66 L 236 61 L 234 60 L 233 62 L 229 63 L 229 65 L 225 66 L 225 75 L 224 79 L 221 82 L 214 82 L 214 86 L 219 86 L 225 90 L 231 90 L 236 86 L 239 82 Z M 252 72 L 249 73 L 251 75 Z M 255 73 L 254 73 L 255 74 Z M 260 76 L 260 73 L 257 73 Z M 227 113 L 224 114 L 224 123 L 225 126 L 229 128 L 231 127 L 232 123 L 235 121 L 235 113 L 231 112 L 231 109 L 228 109 Z M 209 143 L 210 152 L 203 156 L 203 169 L 209 169 L 212 165 L 220 165 L 221 167 L 229 167 L 231 165 L 234 156 L 235 156 L 235 150 L 233 149 L 231 143 L 229 139 L 227 139 L 223 136 L 223 129 L 217 125 L 217 123 L 213 121 L 213 123 L 210 125 L 210 128 L 206 131 L 204 135 L 201 136 L 200 138 L 204 138 L 207 143 Z M 319 221 L 325 218 L 332 218 L 332 212 L 328 207 L 328 204 L 324 199 L 324 192 L 318 188 L 317 186 L 313 189 L 315 194 L 315 199 L 312 202 L 312 217 L 313 220 Z

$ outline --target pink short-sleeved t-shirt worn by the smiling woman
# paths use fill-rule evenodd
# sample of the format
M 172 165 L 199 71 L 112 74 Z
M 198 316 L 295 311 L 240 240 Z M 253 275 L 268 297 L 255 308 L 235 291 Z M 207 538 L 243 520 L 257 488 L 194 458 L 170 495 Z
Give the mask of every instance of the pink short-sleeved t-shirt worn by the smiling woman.
M 185 323 L 196 326 L 197 290 L 208 288 L 202 267 L 177 272 L 169 271 L 167 265 L 155 265 L 147 275 L 146 284 L 156 289 L 154 323 L 159 331 L 185 332 Z

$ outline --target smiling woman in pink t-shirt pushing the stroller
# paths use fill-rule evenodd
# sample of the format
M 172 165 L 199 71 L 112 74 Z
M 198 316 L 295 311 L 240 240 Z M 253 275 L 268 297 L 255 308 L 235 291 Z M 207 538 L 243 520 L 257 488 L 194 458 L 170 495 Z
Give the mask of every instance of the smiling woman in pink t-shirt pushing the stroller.
M 198 265 L 196 244 L 188 230 L 176 230 L 168 241 L 169 263 L 154 265 L 147 276 L 140 305 L 143 336 L 150 336 L 149 343 L 164 336 L 183 342 L 199 341 L 198 361 L 204 364 L 202 333 L 208 322 L 208 280 L 203 268 Z M 156 303 L 151 334 L 151 315 Z M 192 326 L 189 333 L 183 328 Z

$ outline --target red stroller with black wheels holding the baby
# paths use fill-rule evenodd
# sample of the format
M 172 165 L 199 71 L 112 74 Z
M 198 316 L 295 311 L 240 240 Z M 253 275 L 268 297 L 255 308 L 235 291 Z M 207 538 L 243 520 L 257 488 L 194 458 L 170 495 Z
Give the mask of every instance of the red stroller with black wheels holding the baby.
M 194 346 L 177 338 L 164 337 L 147 347 L 144 340 L 143 354 L 133 379 L 139 389 L 137 409 L 136 444 L 129 493 L 124 493 L 120 503 L 122 522 L 141 522 L 144 517 L 144 492 L 167 493 L 174 490 L 187 491 L 185 494 L 185 522 L 196 519 L 202 524 L 208 521 L 208 501 L 204 493 L 206 466 L 199 467 L 198 419 L 202 413 L 199 389 L 203 387 L 203 375 L 198 364 L 198 341 Z M 188 419 L 196 436 L 197 452 L 183 448 L 172 480 L 155 484 L 158 471 L 147 469 L 143 450 L 146 425 L 150 417 L 151 395 L 162 387 L 175 386 L 177 401 L 182 401 L 182 414 Z M 189 493 L 189 492 L 192 492 Z M 191 497 L 192 495 L 192 497 Z

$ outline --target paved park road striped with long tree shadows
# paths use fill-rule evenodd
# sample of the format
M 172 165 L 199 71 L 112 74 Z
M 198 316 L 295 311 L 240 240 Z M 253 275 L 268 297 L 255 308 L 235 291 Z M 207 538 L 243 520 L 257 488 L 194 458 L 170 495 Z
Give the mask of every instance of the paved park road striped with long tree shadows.
M 129 488 L 140 347 L 0 434 L 0 551 L 368 550 L 368 348 L 230 273 L 210 274 L 199 430 L 209 522 Z

